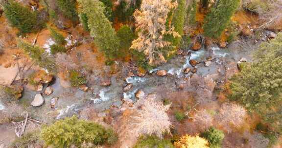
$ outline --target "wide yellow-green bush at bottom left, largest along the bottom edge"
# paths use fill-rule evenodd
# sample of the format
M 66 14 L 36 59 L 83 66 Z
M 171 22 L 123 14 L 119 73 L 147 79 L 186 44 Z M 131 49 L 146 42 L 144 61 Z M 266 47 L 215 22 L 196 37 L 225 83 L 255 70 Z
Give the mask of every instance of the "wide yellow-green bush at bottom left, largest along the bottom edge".
M 114 132 L 109 129 L 93 122 L 78 120 L 76 116 L 44 127 L 40 133 L 40 139 L 45 141 L 46 146 L 54 148 L 70 148 L 71 145 L 81 148 L 84 142 L 102 145 L 109 138 L 113 139 L 113 136 Z

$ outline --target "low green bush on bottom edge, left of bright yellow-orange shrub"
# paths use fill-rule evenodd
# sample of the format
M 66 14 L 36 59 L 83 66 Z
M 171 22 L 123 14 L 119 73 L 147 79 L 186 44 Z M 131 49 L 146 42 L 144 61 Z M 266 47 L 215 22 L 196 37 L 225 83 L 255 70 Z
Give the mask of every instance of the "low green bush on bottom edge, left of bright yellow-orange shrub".
M 134 148 L 174 148 L 170 140 L 159 139 L 158 137 L 141 137 Z

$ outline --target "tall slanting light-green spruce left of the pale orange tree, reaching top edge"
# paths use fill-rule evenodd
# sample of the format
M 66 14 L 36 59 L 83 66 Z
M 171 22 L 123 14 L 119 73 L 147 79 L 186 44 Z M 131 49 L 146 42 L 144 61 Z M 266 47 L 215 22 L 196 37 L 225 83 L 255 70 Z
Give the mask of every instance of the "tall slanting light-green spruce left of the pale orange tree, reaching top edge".
M 111 22 L 104 15 L 103 3 L 99 0 L 78 0 L 80 11 L 88 17 L 90 35 L 94 43 L 103 51 L 107 60 L 112 61 L 118 55 L 119 39 Z

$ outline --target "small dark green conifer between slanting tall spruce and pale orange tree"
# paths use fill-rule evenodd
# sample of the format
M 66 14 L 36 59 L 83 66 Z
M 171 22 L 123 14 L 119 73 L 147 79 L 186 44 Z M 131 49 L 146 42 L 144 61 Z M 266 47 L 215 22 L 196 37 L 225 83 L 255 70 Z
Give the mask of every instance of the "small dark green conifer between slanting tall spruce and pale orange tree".
M 130 46 L 131 42 L 135 37 L 133 31 L 130 29 L 129 26 L 123 25 L 117 32 L 117 36 L 120 40 L 120 50 L 118 52 L 118 56 L 126 56 L 126 54 L 130 53 Z

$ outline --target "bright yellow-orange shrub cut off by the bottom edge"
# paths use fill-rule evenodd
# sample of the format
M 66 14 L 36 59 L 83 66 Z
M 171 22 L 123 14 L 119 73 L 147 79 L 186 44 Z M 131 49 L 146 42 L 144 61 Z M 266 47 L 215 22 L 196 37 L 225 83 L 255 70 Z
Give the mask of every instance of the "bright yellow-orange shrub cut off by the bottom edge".
M 185 135 L 174 143 L 175 148 L 209 148 L 208 145 L 208 141 L 198 135 Z

